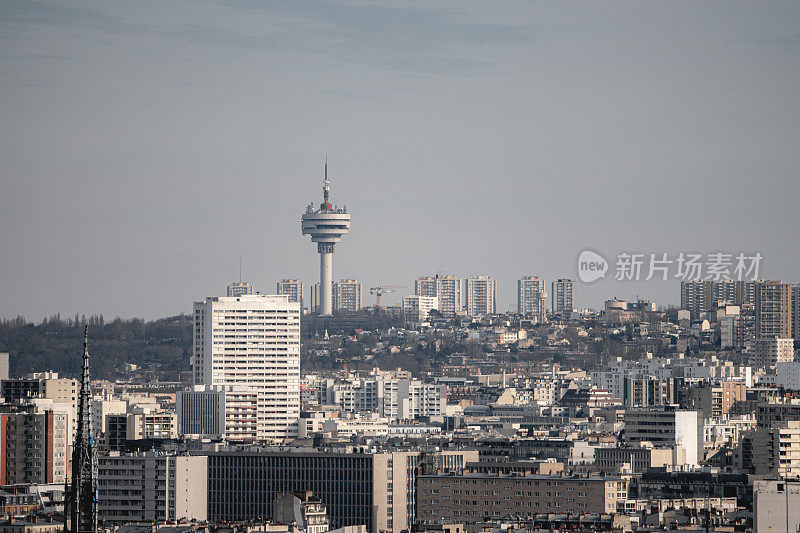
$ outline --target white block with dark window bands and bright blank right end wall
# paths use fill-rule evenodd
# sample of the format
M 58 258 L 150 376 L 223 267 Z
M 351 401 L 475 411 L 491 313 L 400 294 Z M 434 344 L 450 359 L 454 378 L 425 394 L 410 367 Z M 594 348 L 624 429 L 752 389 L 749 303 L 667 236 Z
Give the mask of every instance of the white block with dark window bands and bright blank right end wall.
M 703 419 L 697 411 L 629 409 L 625 411 L 626 444 L 651 443 L 674 452 L 674 464 L 697 465 L 703 458 Z

